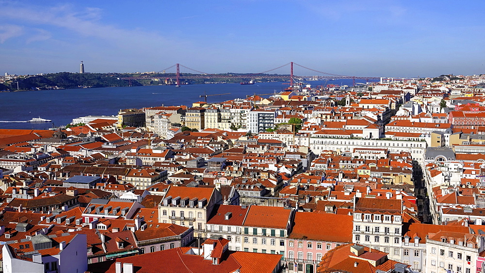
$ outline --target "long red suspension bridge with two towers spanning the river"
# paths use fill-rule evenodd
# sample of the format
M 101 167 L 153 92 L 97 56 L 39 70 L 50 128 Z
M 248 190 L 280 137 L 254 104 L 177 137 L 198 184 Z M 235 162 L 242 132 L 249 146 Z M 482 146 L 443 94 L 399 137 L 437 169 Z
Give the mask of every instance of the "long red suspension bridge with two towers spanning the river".
M 355 86 L 356 79 L 364 79 L 367 81 L 383 80 L 383 77 L 346 76 L 346 75 L 327 73 L 327 72 L 318 71 L 315 69 L 305 67 L 295 62 L 289 62 L 281 66 L 278 66 L 276 68 L 263 71 L 260 73 L 253 73 L 253 74 L 231 74 L 231 73 L 210 74 L 210 73 L 201 72 L 177 63 L 163 69 L 157 74 L 163 74 L 163 75 L 161 76 L 141 75 L 141 76 L 122 77 L 120 79 L 128 80 L 129 86 L 131 86 L 132 80 L 150 80 L 150 79 L 158 79 L 158 80 L 165 79 L 165 80 L 170 80 L 171 82 L 174 81 L 177 86 L 180 86 L 181 80 L 183 79 L 242 79 L 242 80 L 255 80 L 258 78 L 259 79 L 284 79 L 284 80 L 290 81 L 290 86 L 293 86 L 294 82 L 303 81 L 303 80 L 353 79 L 354 86 Z M 404 81 L 404 80 L 412 80 L 416 78 L 399 77 L 394 79 L 402 79 Z

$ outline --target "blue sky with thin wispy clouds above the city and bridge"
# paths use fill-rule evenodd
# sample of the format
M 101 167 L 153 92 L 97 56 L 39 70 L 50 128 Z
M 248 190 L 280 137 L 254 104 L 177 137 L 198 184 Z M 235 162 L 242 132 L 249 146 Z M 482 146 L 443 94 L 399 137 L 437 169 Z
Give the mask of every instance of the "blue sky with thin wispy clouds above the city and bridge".
M 0 73 L 485 74 L 485 1 L 3 1 Z M 284 71 L 275 71 L 283 73 Z M 289 73 L 289 72 L 286 72 Z

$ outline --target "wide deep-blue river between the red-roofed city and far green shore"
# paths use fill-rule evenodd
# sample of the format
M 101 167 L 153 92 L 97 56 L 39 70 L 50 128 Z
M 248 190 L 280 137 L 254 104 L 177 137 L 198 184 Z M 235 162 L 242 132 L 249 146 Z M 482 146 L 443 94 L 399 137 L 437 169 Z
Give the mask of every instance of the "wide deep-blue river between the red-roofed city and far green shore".
M 362 82 L 362 81 L 361 81 Z M 325 81 L 310 81 L 312 87 Z M 352 80 L 328 81 L 327 84 L 352 85 Z M 254 85 L 194 84 L 175 86 L 134 86 L 83 88 L 64 90 L 21 91 L 0 93 L 0 129 L 48 129 L 69 124 L 72 119 L 87 115 L 117 115 L 120 109 L 152 106 L 187 105 L 203 101 L 199 95 L 209 96 L 208 102 L 221 102 L 246 95 L 280 92 L 289 85 L 282 82 L 255 83 Z M 263 96 L 268 97 L 268 96 Z M 52 122 L 25 122 L 41 117 Z M 22 122 L 24 121 L 24 122 Z

